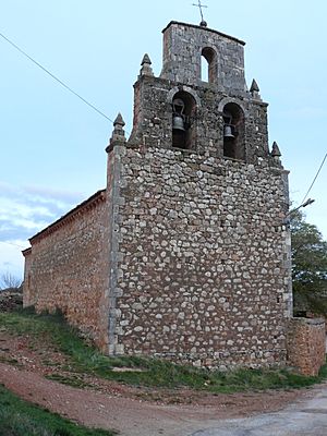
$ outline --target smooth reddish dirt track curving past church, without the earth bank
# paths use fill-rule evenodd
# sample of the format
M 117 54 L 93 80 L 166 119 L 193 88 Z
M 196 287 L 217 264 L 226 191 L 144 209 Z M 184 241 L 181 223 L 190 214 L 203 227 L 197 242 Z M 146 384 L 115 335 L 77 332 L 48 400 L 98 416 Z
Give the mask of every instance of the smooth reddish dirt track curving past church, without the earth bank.
M 76 389 L 41 374 L 0 364 L 0 383 L 20 397 L 87 426 L 117 429 L 125 436 L 186 436 L 218 425 L 218 420 L 276 411 L 312 390 L 259 393 L 204 395 L 192 404 L 167 405 Z M 184 392 L 186 395 L 186 392 Z

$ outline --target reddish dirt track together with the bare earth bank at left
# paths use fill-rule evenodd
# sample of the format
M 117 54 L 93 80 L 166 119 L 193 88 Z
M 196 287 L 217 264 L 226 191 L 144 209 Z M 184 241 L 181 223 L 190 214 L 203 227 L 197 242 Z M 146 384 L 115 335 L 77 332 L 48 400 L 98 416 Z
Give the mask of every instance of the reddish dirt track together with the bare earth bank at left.
M 87 426 L 125 436 L 190 435 L 218 420 L 283 409 L 314 390 L 211 395 L 191 389 L 137 388 L 69 370 L 48 341 L 0 328 L 0 383 L 20 397 Z M 78 388 L 50 380 L 72 379 Z

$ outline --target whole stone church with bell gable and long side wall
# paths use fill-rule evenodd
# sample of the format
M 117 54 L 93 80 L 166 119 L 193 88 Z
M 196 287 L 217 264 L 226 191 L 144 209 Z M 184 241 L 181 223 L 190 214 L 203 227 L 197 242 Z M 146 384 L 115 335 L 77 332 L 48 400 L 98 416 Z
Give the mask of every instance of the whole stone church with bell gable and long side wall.
M 60 308 L 109 355 L 209 367 L 284 364 L 291 317 L 288 171 L 244 43 L 170 22 L 144 56 L 107 186 L 34 235 L 24 305 Z M 202 77 L 202 65 L 207 76 Z

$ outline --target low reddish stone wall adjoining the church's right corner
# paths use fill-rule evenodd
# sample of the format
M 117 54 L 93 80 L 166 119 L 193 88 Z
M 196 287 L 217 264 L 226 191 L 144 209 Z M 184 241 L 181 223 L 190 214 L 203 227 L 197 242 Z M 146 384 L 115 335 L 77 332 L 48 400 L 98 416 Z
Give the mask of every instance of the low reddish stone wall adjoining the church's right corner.
M 324 319 L 292 318 L 288 331 L 288 361 L 304 375 L 317 375 L 326 360 Z

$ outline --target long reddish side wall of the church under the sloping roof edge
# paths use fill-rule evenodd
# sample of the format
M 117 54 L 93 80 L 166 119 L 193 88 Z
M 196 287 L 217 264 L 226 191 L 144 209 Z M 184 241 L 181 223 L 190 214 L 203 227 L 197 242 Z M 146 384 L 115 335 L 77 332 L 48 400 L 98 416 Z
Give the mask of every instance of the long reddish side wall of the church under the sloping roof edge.
M 108 351 L 108 206 L 105 194 L 34 237 L 26 255 L 24 306 L 60 308 Z

